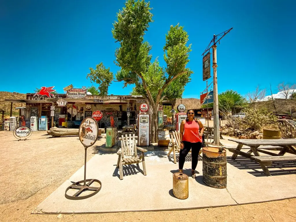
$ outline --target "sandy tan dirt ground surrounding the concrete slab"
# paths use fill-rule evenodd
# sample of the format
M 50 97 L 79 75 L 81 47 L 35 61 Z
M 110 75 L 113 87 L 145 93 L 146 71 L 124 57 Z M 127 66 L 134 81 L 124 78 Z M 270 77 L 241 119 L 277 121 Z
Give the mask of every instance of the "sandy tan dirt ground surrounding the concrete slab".
M 296 199 L 181 211 L 31 214 L 81 168 L 84 148 L 78 136 L 49 138 L 45 131 L 33 132 L 26 141 L 0 131 L 0 141 L 0 221 L 296 221 Z M 87 160 L 103 143 L 101 137 L 88 149 Z

